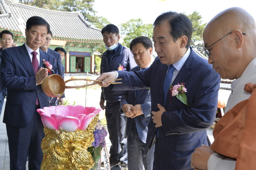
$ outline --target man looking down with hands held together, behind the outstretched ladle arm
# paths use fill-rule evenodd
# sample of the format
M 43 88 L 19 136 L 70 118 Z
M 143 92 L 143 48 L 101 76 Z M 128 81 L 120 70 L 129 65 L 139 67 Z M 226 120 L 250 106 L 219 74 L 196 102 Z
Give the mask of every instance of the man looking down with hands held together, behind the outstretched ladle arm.
M 138 66 L 130 71 L 140 71 L 148 68 L 152 63 L 152 41 L 145 36 L 137 37 L 130 43 L 131 52 Z M 148 123 L 151 118 L 150 89 L 137 89 L 123 92 L 120 107 L 127 117 L 125 138 L 127 138 L 128 169 L 152 170 L 154 149 L 147 156 L 145 143 L 148 133 Z

